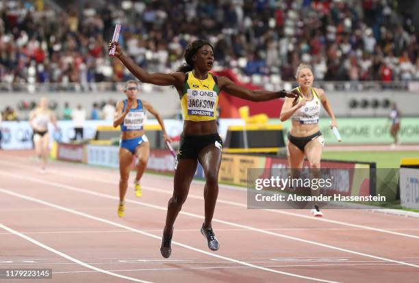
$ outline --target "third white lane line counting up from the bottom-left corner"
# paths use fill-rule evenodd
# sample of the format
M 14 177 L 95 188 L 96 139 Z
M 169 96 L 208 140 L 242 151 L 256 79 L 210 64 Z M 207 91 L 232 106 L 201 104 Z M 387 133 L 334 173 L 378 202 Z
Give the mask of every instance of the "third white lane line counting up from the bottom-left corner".
M 18 176 L 16 174 L 9 174 L 9 173 L 3 172 L 3 171 L 0 171 L 0 175 L 14 176 L 14 178 L 20 178 L 22 180 L 31 180 L 32 182 L 42 183 L 42 184 L 45 184 L 45 185 L 51 185 L 53 187 L 60 187 L 62 189 L 68 189 L 68 190 L 71 190 L 71 191 L 78 191 L 78 192 L 81 192 L 81 193 L 90 194 L 92 196 L 100 196 L 101 198 L 108 198 L 108 199 L 111 199 L 111 200 L 119 200 L 117 197 L 107 195 L 106 193 L 97 193 L 96 191 L 89 191 L 88 189 L 81 189 L 81 188 L 78 188 L 78 187 L 63 185 L 63 184 L 60 184 L 60 183 L 40 180 L 38 178 L 23 177 L 23 176 Z M 134 203 L 134 204 L 141 204 L 142 206 L 155 208 L 155 209 L 158 209 L 160 211 L 166 211 L 166 207 L 164 207 L 164 206 L 157 206 L 157 205 L 154 205 L 154 204 L 148 204 L 148 203 L 139 202 L 139 201 L 136 201 L 136 200 L 128 200 L 127 199 L 125 201 L 126 202 L 131 202 L 131 203 Z M 188 213 L 186 211 L 180 211 L 179 213 L 182 214 L 182 215 L 188 215 L 190 217 L 204 219 L 204 217 L 201 216 L 201 215 L 197 215 L 197 214 L 194 214 L 194 213 Z M 263 233 L 263 234 L 269 234 L 269 235 L 276 236 L 276 237 L 291 239 L 291 240 L 294 240 L 294 241 L 300 241 L 300 242 L 309 243 L 309 244 L 312 244 L 312 245 L 318 245 L 320 247 L 327 247 L 327 248 L 332 249 L 332 250 L 338 250 L 338 251 L 341 251 L 341 252 L 348 252 L 350 254 L 357 254 L 359 256 L 367 256 L 369 258 L 375 258 L 375 259 L 379 259 L 379 260 L 384 260 L 384 261 L 388 261 L 388 262 L 395 262 L 395 263 L 399 263 L 401 265 L 408 265 L 410 267 L 419 268 L 419 265 L 412 265 L 408 262 L 403 262 L 403 261 L 399 261 L 399 260 L 392 260 L 390 258 L 382 258 L 380 256 L 373 256 L 371 254 L 365 254 L 365 253 L 361 253 L 361 252 L 355 252 L 353 250 L 347 250 L 347 249 L 344 249 L 344 248 L 341 248 L 341 247 L 335 247 L 333 245 L 327 245 L 327 244 L 323 244 L 323 243 L 309 241 L 309 240 L 305 240 L 305 239 L 301 239 L 301 238 L 297 238 L 297 237 L 288 236 L 288 235 L 285 235 L 285 234 L 278 234 L 278 233 L 275 233 L 275 232 L 270 232 L 270 231 L 254 228 L 254 227 L 251 227 L 251 226 L 236 224 L 236 223 L 233 223 L 233 222 L 230 222 L 230 221 L 224 221 L 224 220 L 220 220 L 220 219 L 216 219 L 216 218 L 213 218 L 212 221 L 222 223 L 222 224 L 226 224 L 226 225 L 229 225 L 229 226 L 234 226 L 234 227 L 238 227 L 238 228 L 244 228 L 244 229 L 252 230 L 252 231 L 255 231 L 255 232 L 260 232 L 260 233 Z

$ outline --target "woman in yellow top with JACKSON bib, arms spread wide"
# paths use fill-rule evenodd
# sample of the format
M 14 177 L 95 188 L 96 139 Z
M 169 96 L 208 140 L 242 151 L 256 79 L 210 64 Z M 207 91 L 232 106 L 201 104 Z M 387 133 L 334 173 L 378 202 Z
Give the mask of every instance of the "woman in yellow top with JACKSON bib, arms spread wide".
M 120 49 L 118 42 L 110 42 L 109 50 L 115 47 L 118 57 L 143 83 L 155 85 L 173 85 L 181 100 L 183 111 L 183 133 L 177 163 L 173 197 L 168 202 L 166 226 L 164 227 L 160 252 L 168 258 L 172 251 L 171 241 L 173 224 L 188 196 L 196 165 L 201 163 L 205 174 L 205 220 L 201 233 L 207 240 L 210 250 L 218 250 L 218 241 L 212 230 L 212 217 L 218 196 L 218 171 L 220 170 L 223 142 L 217 133 L 216 111 L 218 95 L 225 91 L 233 96 L 247 100 L 264 101 L 285 96 L 296 98 L 297 94 L 279 91 L 248 90 L 236 85 L 226 77 L 216 77 L 210 73 L 214 64 L 214 50 L 205 40 L 195 40 L 186 47 L 186 64 L 177 72 L 170 74 L 149 74 L 127 57 Z

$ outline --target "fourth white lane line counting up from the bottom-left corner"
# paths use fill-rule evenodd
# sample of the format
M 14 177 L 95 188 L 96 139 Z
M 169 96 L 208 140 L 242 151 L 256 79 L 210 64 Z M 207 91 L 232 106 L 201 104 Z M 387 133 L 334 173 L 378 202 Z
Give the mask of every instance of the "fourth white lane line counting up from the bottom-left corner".
M 10 162 L 10 161 L 0 161 L 0 163 L 6 163 L 6 164 L 9 164 L 9 165 L 12 164 L 14 166 L 18 165 L 19 167 L 27 167 L 27 169 L 29 169 L 29 170 L 35 170 L 34 167 L 32 167 L 32 166 L 24 166 L 24 165 L 21 165 L 19 163 L 13 163 L 13 162 Z M 76 174 L 63 173 L 63 172 L 60 172 L 58 170 L 49 170 L 49 171 L 50 172 L 53 172 L 54 174 L 61 175 L 61 176 L 70 176 L 70 177 L 74 177 L 74 178 L 83 178 L 85 180 L 93 180 L 95 182 L 101 182 L 101 183 L 107 183 L 107 184 L 117 185 L 116 182 L 112 182 L 112 181 L 109 181 L 109 180 L 104 180 L 104 179 L 99 179 L 99 178 L 90 178 L 88 176 L 81 176 L 81 175 L 76 175 Z M 196 181 L 196 182 L 199 182 L 199 181 Z M 129 185 L 129 186 L 131 187 L 131 185 Z M 226 186 L 225 185 L 220 185 L 220 187 L 226 187 Z M 165 193 L 165 194 L 170 195 L 170 196 L 173 194 L 173 191 L 165 190 L 165 189 L 160 189 L 160 188 L 155 188 L 155 187 L 150 187 L 150 186 L 144 186 L 144 189 L 148 189 L 150 191 L 155 191 L 157 193 Z M 242 191 L 243 193 L 246 192 L 245 190 L 246 190 L 245 188 L 237 189 L 237 191 Z M 188 194 L 188 198 L 194 198 L 196 200 L 203 200 L 203 197 L 202 196 L 197 196 L 197 195 L 194 195 L 192 193 L 189 193 Z M 247 205 L 246 204 L 242 204 L 240 202 L 232 202 L 232 201 L 229 201 L 229 200 L 221 200 L 220 198 L 218 198 L 217 202 L 218 203 L 221 203 L 221 204 L 229 204 L 229 205 L 233 205 L 233 206 L 239 206 L 239 207 L 247 208 Z M 327 218 L 312 217 L 312 216 L 307 216 L 307 215 L 301 215 L 301 214 L 292 213 L 292 212 L 289 212 L 289 211 L 275 210 L 275 209 L 264 209 L 263 211 L 269 211 L 271 213 L 279 213 L 279 214 L 283 214 L 283 215 L 290 215 L 290 216 L 294 216 L 294 217 L 301 217 L 301 218 L 305 218 L 305 219 L 310 219 L 311 221 L 323 221 L 323 222 L 328 222 L 328 223 L 333 223 L 333 224 L 350 226 L 350 227 L 354 227 L 354 228 L 360 228 L 360 229 L 364 229 L 364 230 L 372 230 L 372 231 L 375 231 L 375 232 L 383 232 L 383 233 L 387 233 L 387 234 L 394 234 L 394 235 L 398 235 L 398 236 L 409 237 L 409 238 L 413 238 L 413 239 L 419 239 L 419 236 L 412 235 L 412 234 L 406 234 L 406 233 L 401 233 L 401 232 L 394 232 L 394 231 L 390 231 L 390 230 L 384 230 L 384 229 L 380 229 L 380 228 L 373 228 L 373 227 L 364 226 L 364 225 L 351 224 L 351 223 L 348 223 L 348 222 L 336 221 L 336 220 L 331 220 L 331 219 L 327 219 Z

